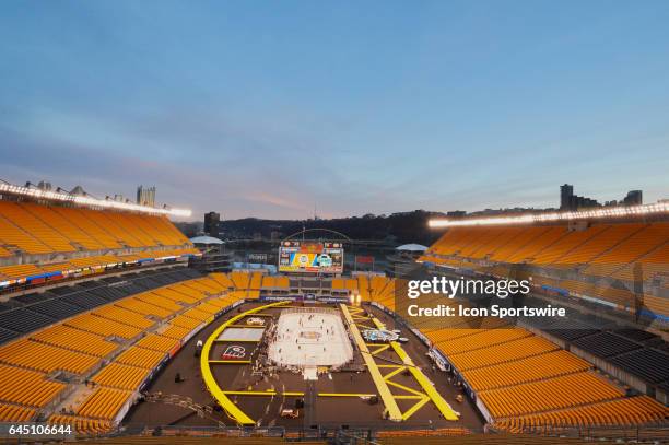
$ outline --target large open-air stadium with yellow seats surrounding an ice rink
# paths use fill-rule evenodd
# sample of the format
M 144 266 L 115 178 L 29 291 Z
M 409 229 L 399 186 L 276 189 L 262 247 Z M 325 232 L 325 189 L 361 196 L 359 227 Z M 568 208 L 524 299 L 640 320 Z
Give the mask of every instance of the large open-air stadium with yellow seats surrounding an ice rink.
M 347 270 L 324 238 L 282 242 L 275 270 L 202 272 L 210 251 L 169 220 L 187 214 L 0 185 L 4 438 L 16 424 L 105 444 L 669 437 L 666 204 L 435 220 L 438 241 L 392 277 Z M 528 280 L 508 304 L 567 316 L 408 315 L 408 283 L 435 277 Z

